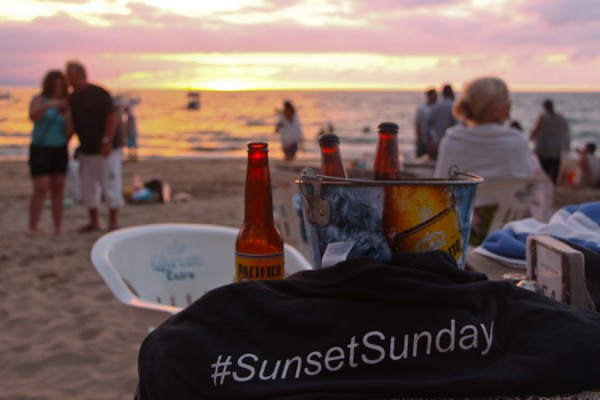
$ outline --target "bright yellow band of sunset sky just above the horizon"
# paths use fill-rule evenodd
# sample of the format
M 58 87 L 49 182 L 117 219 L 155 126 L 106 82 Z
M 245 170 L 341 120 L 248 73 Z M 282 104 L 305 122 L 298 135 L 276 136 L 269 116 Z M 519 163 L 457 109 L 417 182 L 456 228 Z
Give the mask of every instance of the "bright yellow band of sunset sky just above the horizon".
M 108 57 L 108 56 L 107 56 Z M 152 66 L 160 63 L 159 70 Z M 369 53 L 209 53 L 137 54 L 129 64 L 148 68 L 122 73 L 114 86 L 194 87 L 208 90 L 283 88 L 421 87 L 410 74 L 434 71 L 440 65 L 460 64 L 456 56 L 390 56 Z M 165 66 L 170 65 L 170 71 Z M 367 71 L 367 72 L 365 72 Z M 366 79 L 365 77 L 371 76 Z M 382 75 L 388 81 L 378 81 Z

